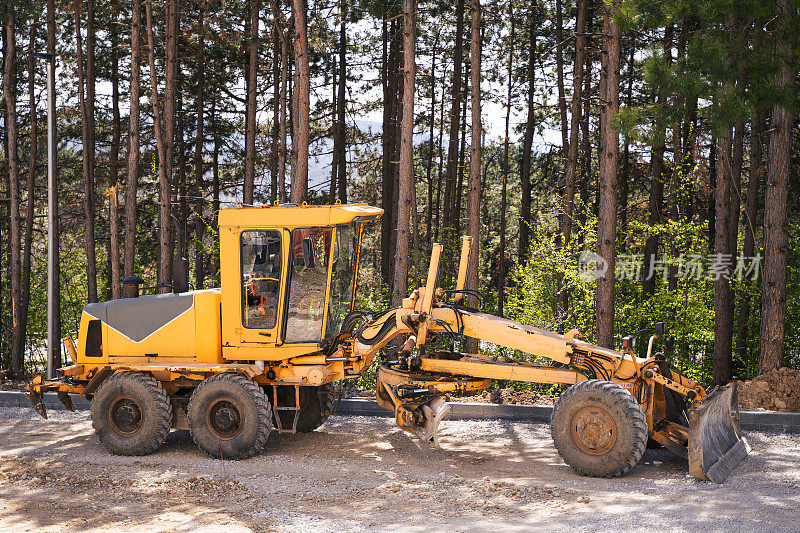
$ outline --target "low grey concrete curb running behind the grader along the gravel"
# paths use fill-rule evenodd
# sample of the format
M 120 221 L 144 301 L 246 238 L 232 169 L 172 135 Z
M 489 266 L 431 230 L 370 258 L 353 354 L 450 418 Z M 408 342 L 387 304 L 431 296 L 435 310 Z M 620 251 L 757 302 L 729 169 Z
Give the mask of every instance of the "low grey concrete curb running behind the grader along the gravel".
M 89 401 L 82 396 L 71 395 L 75 409 L 88 410 Z M 63 410 L 64 407 L 55 393 L 44 395 L 48 410 Z M 29 407 L 30 402 L 24 392 L 0 391 L 0 409 L 5 407 Z M 505 405 L 493 403 L 450 403 L 449 420 L 519 420 L 528 422 L 550 422 L 553 408 L 549 405 Z M 337 414 L 344 416 L 391 417 L 391 413 L 377 404 L 375 400 L 364 398 L 343 398 Z M 772 411 L 741 411 L 740 422 L 743 429 L 751 431 L 770 431 L 777 433 L 800 433 L 800 413 L 778 413 Z

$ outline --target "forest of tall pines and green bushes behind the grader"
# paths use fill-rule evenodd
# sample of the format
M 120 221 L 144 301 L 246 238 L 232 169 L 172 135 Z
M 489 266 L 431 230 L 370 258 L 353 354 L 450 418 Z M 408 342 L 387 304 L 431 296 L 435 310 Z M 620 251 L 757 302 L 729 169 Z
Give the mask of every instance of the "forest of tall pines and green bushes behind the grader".
M 664 321 L 668 358 L 706 384 L 800 368 L 794 0 L 15 0 L 0 16 L 11 375 L 45 351 L 35 52 L 57 65 L 62 335 L 125 277 L 170 282 L 170 215 L 203 288 L 220 208 L 341 200 L 385 210 L 360 305 L 417 286 L 433 242 L 453 272 L 471 234 L 489 312 L 605 346 Z

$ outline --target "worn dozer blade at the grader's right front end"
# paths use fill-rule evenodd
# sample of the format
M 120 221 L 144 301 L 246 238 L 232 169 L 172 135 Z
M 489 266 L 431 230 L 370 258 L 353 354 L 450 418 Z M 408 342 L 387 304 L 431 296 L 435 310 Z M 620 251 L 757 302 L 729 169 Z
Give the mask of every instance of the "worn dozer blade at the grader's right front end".
M 749 453 L 739 428 L 736 384 L 714 389 L 689 412 L 689 473 L 722 483 Z

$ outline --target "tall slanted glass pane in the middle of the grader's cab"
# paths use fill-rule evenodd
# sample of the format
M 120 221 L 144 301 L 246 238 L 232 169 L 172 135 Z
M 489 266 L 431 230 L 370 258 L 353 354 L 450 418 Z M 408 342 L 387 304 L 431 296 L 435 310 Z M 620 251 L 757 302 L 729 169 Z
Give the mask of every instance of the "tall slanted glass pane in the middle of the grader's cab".
M 319 342 L 325 316 L 333 228 L 292 231 L 291 278 L 284 341 Z

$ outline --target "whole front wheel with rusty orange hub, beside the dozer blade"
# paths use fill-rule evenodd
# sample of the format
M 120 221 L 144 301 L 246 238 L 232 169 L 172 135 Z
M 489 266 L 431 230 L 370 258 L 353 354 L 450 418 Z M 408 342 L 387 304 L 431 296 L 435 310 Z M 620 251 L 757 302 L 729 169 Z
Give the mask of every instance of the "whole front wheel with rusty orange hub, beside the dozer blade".
M 550 429 L 561 458 L 584 476 L 621 476 L 647 445 L 647 420 L 636 399 L 599 379 L 577 383 L 558 398 Z

